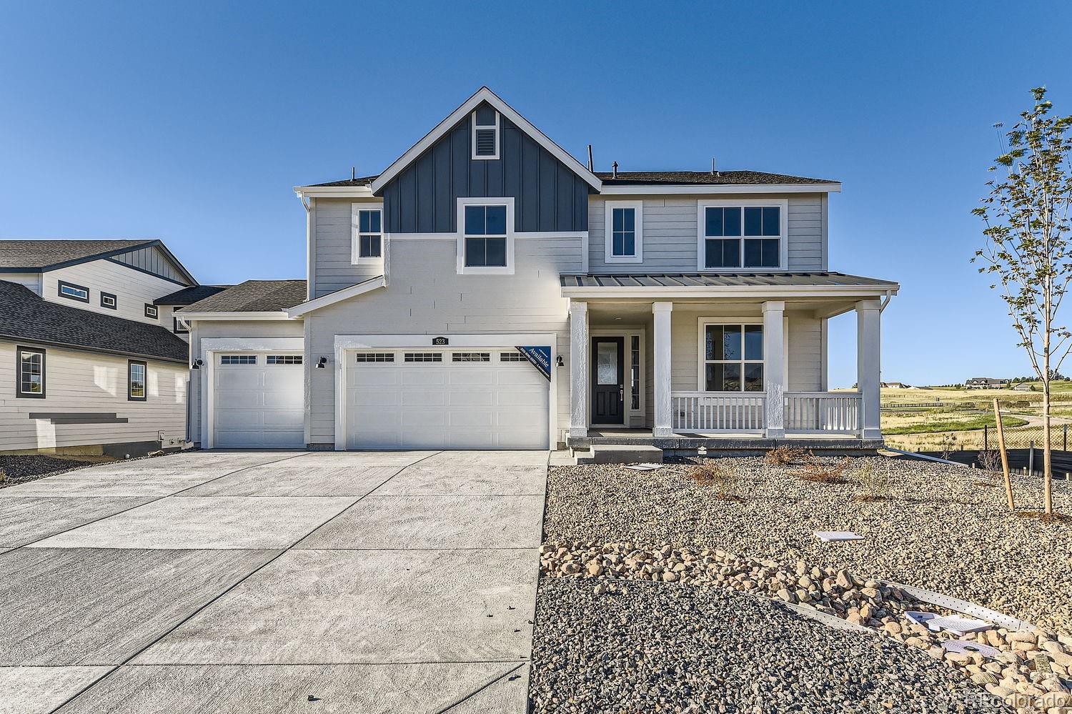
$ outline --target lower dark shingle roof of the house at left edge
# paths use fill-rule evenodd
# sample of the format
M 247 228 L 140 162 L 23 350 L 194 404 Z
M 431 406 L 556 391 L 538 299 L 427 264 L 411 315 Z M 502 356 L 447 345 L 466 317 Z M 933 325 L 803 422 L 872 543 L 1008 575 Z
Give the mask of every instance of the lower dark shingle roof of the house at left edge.
M 43 300 L 0 280 L 0 338 L 185 362 L 189 345 L 169 329 Z

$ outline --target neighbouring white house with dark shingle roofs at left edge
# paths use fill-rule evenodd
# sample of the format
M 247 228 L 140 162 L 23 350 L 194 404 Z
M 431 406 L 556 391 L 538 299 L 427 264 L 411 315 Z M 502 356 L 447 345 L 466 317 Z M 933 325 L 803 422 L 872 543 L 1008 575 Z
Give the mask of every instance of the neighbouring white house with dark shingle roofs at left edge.
M 157 301 L 195 285 L 159 240 L 0 240 L 0 453 L 181 446 L 189 346 Z

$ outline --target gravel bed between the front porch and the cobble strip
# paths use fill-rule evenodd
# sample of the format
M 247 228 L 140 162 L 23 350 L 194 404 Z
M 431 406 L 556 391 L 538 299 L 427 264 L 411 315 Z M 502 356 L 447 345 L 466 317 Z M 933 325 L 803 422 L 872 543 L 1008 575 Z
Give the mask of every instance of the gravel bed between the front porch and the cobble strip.
M 727 500 L 717 487 L 689 478 L 685 463 L 652 472 L 552 467 L 546 538 L 644 549 L 673 544 L 783 563 L 803 560 L 1072 631 L 1072 525 L 1010 514 L 1000 475 L 870 457 L 851 460 L 847 482 L 822 484 L 801 478 L 799 465 L 771 466 L 759 458 L 715 461 L 732 462 L 736 475 L 730 484 L 735 493 Z M 862 467 L 887 475 L 885 497 L 857 500 Z M 1070 487 L 1054 482 L 1055 505 L 1066 514 L 1072 514 Z M 1017 477 L 1015 491 L 1024 507 L 1039 507 L 1038 478 Z M 864 539 L 820 542 L 815 531 L 854 531 Z

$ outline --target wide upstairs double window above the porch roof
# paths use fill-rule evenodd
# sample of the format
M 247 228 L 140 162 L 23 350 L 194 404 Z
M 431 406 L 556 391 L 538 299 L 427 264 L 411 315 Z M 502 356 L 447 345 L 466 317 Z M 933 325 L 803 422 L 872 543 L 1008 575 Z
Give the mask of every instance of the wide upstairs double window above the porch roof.
M 700 269 L 780 268 L 787 202 L 701 202 Z

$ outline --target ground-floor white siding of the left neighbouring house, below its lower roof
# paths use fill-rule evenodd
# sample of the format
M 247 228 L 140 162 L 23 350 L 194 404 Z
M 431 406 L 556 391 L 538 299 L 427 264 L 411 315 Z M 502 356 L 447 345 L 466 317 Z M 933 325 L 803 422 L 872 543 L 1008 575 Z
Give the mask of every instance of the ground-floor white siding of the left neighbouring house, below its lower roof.
M 33 346 L 32 343 L 19 343 Z M 0 342 L 0 452 L 185 436 L 184 365 L 146 360 L 148 399 L 126 399 L 126 358 L 45 347 L 45 399 L 15 397 L 15 348 Z M 53 425 L 31 412 L 115 413 L 126 423 Z

